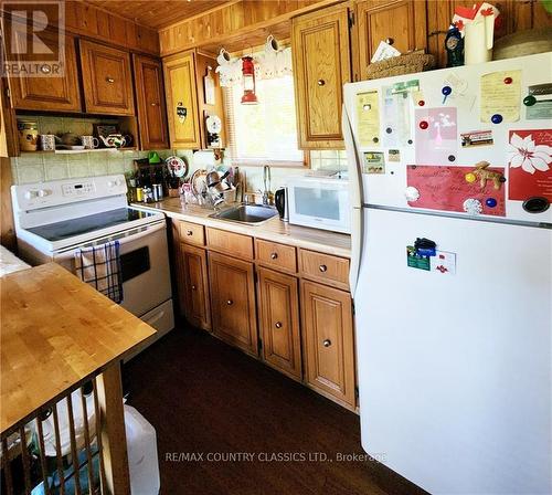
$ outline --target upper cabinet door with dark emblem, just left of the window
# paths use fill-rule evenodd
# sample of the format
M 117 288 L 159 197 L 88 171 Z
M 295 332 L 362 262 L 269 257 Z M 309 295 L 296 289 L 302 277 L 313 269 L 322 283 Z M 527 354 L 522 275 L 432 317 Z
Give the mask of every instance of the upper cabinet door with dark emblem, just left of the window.
M 167 113 L 173 148 L 201 148 L 194 63 L 193 52 L 163 61 Z

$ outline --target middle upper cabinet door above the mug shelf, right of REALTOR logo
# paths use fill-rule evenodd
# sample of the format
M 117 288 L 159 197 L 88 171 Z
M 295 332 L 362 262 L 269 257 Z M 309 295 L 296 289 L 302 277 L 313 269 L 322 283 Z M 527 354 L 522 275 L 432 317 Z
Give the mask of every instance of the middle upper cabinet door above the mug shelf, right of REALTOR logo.
M 81 57 L 86 112 L 134 115 L 129 53 L 81 40 Z

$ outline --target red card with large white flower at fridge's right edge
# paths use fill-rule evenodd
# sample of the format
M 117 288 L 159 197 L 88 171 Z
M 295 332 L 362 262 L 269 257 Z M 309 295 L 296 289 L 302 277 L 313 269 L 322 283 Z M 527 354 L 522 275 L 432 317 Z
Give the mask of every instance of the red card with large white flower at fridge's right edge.
M 552 129 L 510 130 L 508 196 L 552 201 Z

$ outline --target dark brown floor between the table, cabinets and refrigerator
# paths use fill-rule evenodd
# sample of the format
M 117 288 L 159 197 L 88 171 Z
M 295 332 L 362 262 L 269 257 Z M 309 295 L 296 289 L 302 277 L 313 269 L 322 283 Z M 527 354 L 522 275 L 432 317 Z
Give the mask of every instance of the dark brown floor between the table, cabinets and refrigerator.
M 124 383 L 157 430 L 162 494 L 425 493 L 374 461 L 340 461 L 363 454 L 354 413 L 204 331 L 171 331 Z

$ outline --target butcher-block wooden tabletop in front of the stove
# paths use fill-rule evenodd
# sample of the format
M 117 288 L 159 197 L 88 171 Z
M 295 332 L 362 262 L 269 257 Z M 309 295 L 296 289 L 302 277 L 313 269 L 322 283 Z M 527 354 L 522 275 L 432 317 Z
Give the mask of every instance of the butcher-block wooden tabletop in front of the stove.
M 0 283 L 1 432 L 156 334 L 55 263 Z

